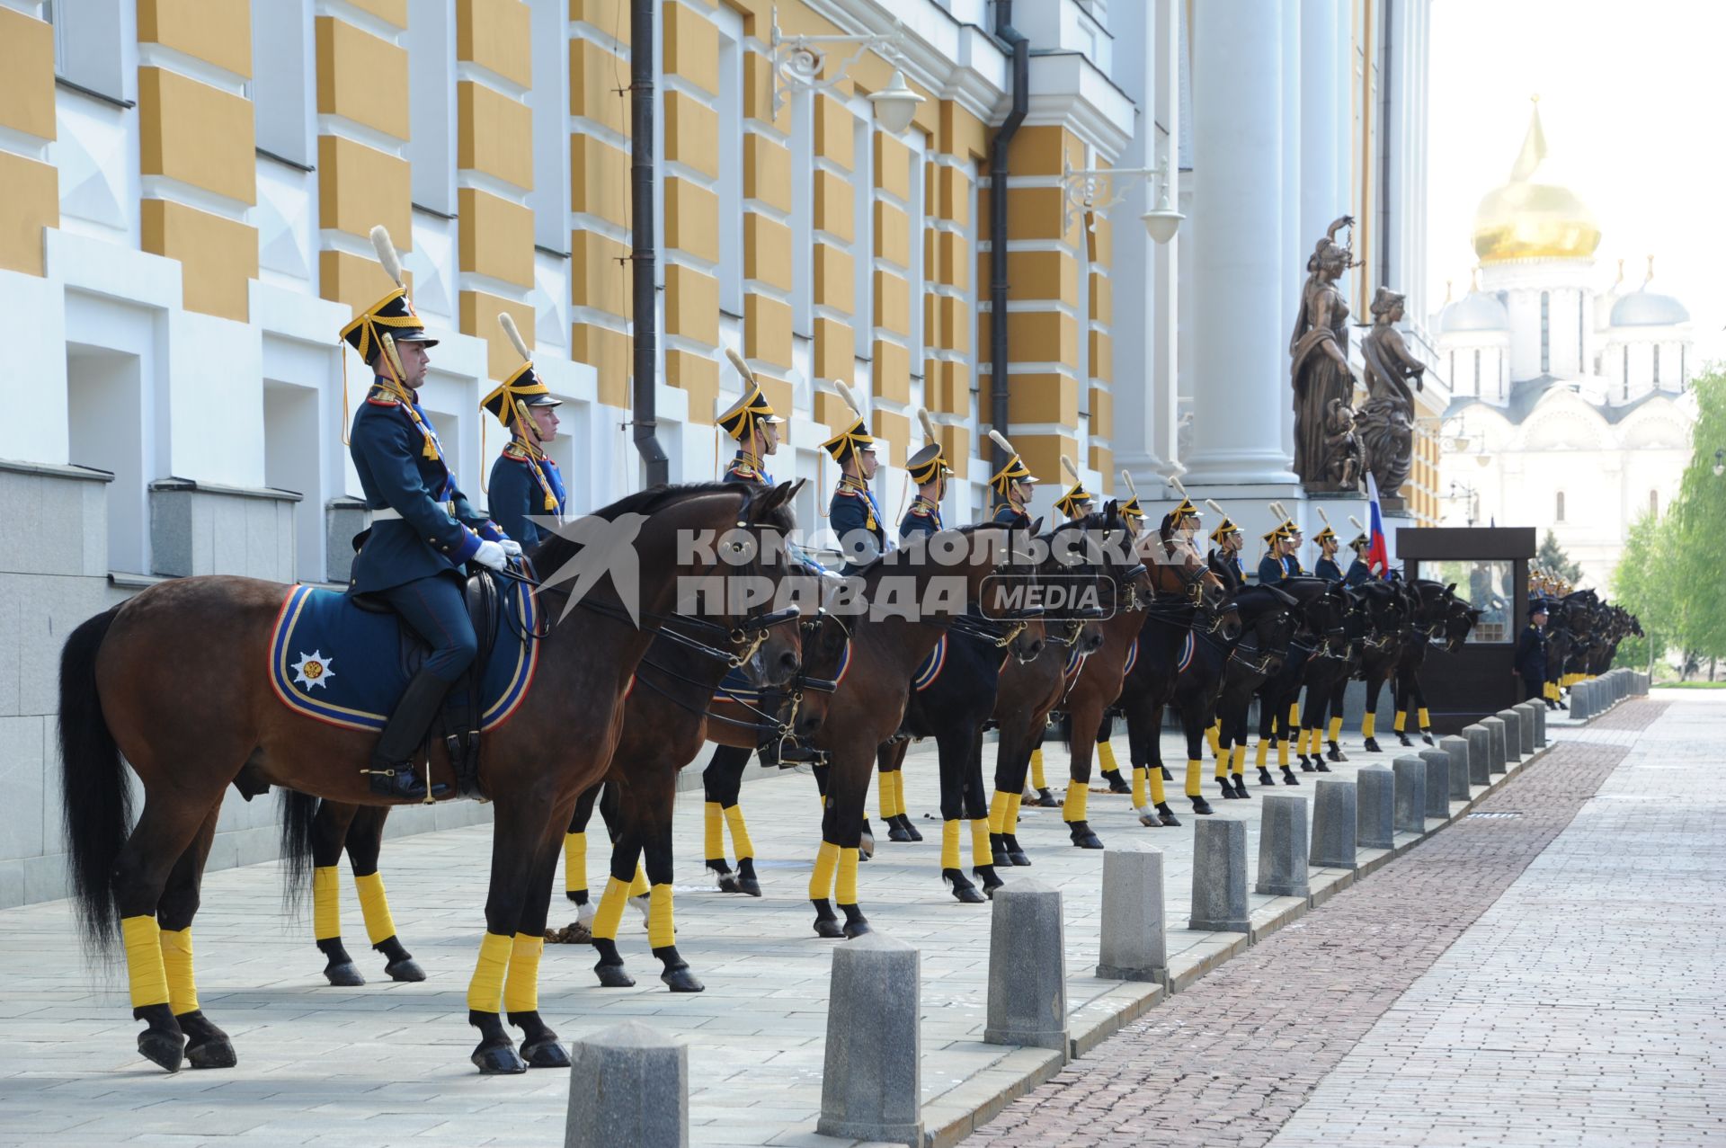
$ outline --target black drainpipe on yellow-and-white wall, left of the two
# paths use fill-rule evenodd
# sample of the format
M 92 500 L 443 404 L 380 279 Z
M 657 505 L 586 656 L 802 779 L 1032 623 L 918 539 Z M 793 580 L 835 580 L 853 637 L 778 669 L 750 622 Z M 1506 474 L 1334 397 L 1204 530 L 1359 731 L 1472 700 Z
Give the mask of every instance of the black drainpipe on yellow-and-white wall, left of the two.
M 647 464 L 647 485 L 670 482 L 671 466 L 659 445 L 656 323 L 658 237 L 652 226 L 652 10 L 656 0 L 630 0 L 630 254 L 635 311 L 635 380 L 632 421 L 635 449 Z

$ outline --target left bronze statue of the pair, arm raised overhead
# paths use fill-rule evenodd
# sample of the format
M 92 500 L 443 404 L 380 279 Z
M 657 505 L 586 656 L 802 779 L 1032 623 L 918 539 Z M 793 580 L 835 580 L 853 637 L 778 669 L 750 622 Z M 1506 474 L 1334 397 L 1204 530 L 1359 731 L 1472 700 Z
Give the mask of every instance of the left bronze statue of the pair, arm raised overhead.
M 1351 216 L 1332 223 L 1307 261 L 1294 335 L 1289 340 L 1294 383 L 1294 473 L 1315 490 L 1355 490 L 1348 459 L 1332 457 L 1353 447 L 1355 373 L 1348 368 L 1348 302 L 1336 281 L 1353 264 L 1353 254 L 1336 233 L 1353 226 Z

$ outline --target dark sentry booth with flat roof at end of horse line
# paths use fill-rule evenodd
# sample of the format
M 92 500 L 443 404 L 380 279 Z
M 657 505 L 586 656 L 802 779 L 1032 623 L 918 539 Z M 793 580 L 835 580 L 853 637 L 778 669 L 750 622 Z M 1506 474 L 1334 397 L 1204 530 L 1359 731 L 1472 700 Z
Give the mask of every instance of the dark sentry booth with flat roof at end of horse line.
M 1410 578 L 1455 583 L 1484 611 L 1455 654 L 1427 651 L 1420 668 L 1433 732 L 1455 734 L 1522 701 L 1515 642 L 1528 625 L 1533 527 L 1429 527 L 1396 532 L 1396 556 Z

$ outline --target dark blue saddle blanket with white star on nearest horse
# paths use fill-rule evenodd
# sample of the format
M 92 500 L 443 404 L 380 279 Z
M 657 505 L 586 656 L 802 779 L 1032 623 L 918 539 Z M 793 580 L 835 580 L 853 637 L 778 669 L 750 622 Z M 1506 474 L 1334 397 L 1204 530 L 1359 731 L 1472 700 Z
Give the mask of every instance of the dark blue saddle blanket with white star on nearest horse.
M 501 589 L 497 606 L 533 632 L 537 613 L 526 585 Z M 514 713 L 533 682 L 539 642 L 523 642 L 514 628 L 499 620 L 480 682 L 480 723 L 487 730 Z M 395 615 L 359 609 L 335 590 L 293 587 L 269 635 L 269 684 L 281 704 L 309 718 L 381 730 L 418 663 L 418 656 L 404 656 L 402 637 Z

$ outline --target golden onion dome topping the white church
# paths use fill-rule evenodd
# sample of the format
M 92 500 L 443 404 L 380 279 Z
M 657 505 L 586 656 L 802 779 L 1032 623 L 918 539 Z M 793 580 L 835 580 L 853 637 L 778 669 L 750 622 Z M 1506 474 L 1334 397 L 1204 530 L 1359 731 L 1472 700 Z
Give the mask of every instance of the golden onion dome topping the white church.
M 1512 259 L 1588 259 L 1600 245 L 1600 224 L 1576 192 L 1541 183 L 1546 135 L 1540 104 L 1529 112 L 1522 150 L 1510 166 L 1510 181 L 1493 188 L 1474 211 L 1474 254 L 1481 262 Z

